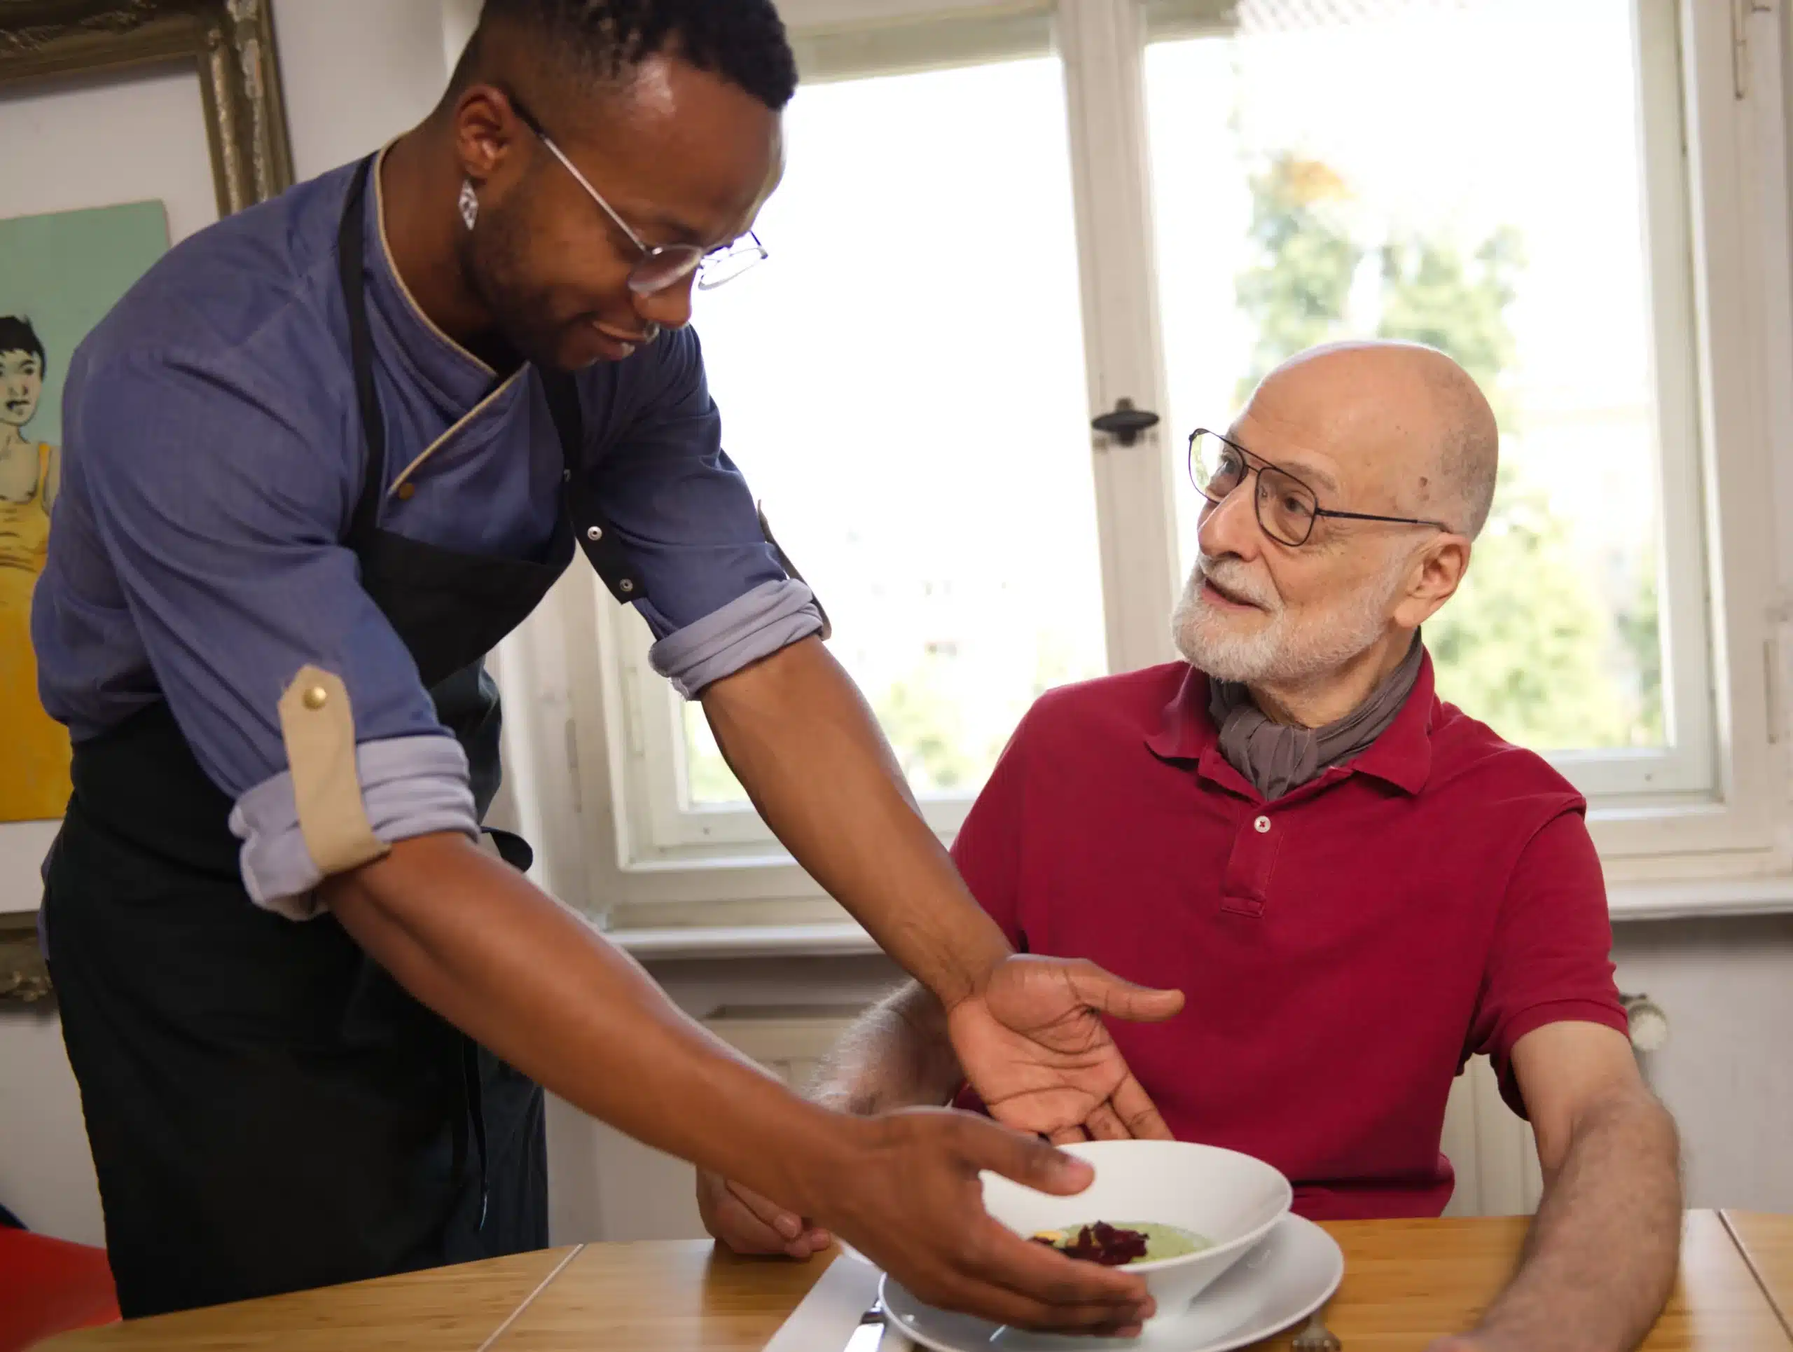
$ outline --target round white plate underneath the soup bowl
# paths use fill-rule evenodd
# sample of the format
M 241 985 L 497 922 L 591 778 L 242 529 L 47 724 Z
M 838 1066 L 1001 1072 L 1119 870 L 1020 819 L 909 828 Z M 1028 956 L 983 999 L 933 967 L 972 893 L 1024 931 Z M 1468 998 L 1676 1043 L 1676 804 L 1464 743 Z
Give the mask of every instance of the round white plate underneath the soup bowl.
M 1345 1255 L 1332 1235 L 1300 1216 L 1284 1216 L 1250 1255 L 1196 1296 L 1180 1316 L 1140 1338 L 1065 1338 L 974 1320 L 923 1305 L 902 1282 L 884 1278 L 886 1320 L 936 1352 L 1228 1352 L 1298 1323 L 1332 1298 Z

